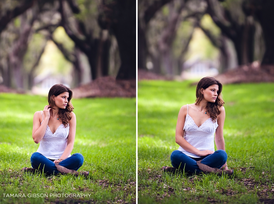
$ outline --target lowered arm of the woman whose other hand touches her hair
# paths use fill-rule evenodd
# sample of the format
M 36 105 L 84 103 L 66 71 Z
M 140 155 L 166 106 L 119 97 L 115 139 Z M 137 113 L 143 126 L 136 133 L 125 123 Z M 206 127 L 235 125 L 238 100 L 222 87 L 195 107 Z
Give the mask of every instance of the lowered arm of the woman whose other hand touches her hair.
M 68 133 L 68 142 L 67 147 L 60 157 L 60 159 L 66 159 L 68 158 L 69 154 L 72 152 L 73 145 L 74 145 L 74 139 L 75 139 L 75 133 L 76 133 L 76 115 L 74 112 L 70 113 L 71 120 L 69 121 L 69 133 Z M 60 162 L 59 160 L 55 160 L 54 163 Z

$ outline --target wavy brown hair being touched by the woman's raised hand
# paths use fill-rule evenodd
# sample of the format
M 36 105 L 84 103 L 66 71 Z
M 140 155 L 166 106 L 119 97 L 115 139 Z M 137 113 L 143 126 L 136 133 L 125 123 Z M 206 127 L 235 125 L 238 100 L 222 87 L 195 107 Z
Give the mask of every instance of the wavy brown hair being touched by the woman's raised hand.
M 73 111 L 74 107 L 71 103 L 72 99 L 72 90 L 70 90 L 68 87 L 66 87 L 63 84 L 55 84 L 51 87 L 51 89 L 48 92 L 47 101 L 48 105 L 51 106 L 52 109 L 55 105 L 54 100 L 52 99 L 52 96 L 58 96 L 64 92 L 68 92 L 68 104 L 65 109 L 59 109 L 58 112 L 58 118 L 62 121 L 62 124 L 67 127 L 69 124 L 69 121 L 71 120 L 70 113 Z

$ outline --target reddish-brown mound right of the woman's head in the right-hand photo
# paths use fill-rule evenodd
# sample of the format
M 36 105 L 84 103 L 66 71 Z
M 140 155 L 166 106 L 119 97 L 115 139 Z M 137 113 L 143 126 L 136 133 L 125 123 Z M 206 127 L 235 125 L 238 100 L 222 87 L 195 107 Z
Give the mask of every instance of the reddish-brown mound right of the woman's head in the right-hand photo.
M 274 82 L 274 65 L 255 66 L 254 64 L 253 62 L 251 65 L 239 66 L 215 78 L 222 84 Z

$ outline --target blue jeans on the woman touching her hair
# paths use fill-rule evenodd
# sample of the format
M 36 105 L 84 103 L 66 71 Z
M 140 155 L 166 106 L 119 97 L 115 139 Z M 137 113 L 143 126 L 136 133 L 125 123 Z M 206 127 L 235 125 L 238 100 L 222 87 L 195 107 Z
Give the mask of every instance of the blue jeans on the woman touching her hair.
M 31 166 L 34 169 L 42 170 L 47 176 L 56 175 L 60 172 L 57 170 L 54 159 L 47 159 L 39 152 L 34 152 L 30 157 Z M 75 153 L 72 156 L 62 160 L 59 165 L 64 166 L 67 169 L 77 171 L 84 162 L 84 157 L 80 153 Z

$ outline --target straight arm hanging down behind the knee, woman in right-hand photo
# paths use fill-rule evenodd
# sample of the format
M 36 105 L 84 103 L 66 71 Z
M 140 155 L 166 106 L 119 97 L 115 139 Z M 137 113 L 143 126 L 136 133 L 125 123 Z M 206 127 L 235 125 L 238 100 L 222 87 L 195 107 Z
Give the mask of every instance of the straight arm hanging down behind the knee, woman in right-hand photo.
M 221 113 L 220 115 L 218 115 L 218 127 L 215 132 L 215 144 L 218 150 L 219 149 L 226 150 L 225 142 L 223 139 L 223 125 L 226 117 L 226 112 L 223 106 L 220 109 L 221 109 Z

